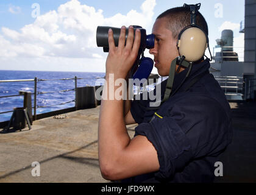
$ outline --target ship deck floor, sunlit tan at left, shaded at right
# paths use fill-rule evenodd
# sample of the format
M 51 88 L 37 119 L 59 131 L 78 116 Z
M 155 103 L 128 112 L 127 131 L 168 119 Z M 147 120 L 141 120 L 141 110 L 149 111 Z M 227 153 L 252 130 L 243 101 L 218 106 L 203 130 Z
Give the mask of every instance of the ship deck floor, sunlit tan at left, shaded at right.
M 220 160 L 224 176 L 215 182 L 256 182 L 256 103 L 230 106 L 233 142 Z M 0 182 L 108 182 L 98 163 L 99 107 L 62 116 L 0 134 Z M 130 137 L 136 126 L 127 126 Z M 40 177 L 32 176 L 34 161 L 40 163 Z

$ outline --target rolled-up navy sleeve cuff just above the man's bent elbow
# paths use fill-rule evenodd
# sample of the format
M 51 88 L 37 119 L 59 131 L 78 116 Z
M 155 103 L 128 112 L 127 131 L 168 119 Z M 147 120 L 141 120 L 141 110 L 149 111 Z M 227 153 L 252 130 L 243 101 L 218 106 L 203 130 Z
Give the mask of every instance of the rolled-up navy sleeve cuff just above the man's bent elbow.
M 155 176 L 160 179 L 171 177 L 193 156 L 185 133 L 172 118 L 155 118 L 152 122 L 141 123 L 135 128 L 135 134 L 146 136 L 154 145 L 160 163 Z

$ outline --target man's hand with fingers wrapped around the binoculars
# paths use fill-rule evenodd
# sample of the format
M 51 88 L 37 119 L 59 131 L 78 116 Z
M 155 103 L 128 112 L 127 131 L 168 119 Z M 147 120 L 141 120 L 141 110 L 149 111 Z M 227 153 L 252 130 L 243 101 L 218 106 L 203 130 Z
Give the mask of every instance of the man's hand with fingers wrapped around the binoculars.
M 109 52 L 106 62 L 106 76 L 108 76 L 108 74 L 114 74 L 116 78 L 126 78 L 133 63 L 137 59 L 138 50 L 140 48 L 140 38 L 140 29 L 136 30 L 134 39 L 134 29 L 133 26 L 130 26 L 126 40 L 126 27 L 122 26 L 118 47 L 116 47 L 113 38 L 113 30 L 108 30 Z

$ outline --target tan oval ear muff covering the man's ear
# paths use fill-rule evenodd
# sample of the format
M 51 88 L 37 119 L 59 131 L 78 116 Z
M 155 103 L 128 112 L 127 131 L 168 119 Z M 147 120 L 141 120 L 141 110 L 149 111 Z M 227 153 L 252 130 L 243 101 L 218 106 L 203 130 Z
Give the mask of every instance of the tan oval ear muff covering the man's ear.
M 177 47 L 180 56 L 184 55 L 187 62 L 196 62 L 204 56 L 207 37 L 198 27 L 189 27 L 179 36 Z

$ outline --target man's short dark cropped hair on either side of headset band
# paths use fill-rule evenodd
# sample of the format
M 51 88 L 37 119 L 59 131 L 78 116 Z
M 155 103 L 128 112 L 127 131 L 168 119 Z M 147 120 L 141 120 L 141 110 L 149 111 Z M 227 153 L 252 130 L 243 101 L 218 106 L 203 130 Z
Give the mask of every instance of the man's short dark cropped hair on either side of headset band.
M 159 18 L 168 19 L 167 28 L 171 30 L 173 38 L 177 39 L 180 31 L 190 26 L 190 9 L 187 7 L 174 7 L 161 13 L 157 19 Z M 200 12 L 198 12 L 196 16 L 196 26 L 204 30 L 205 34 L 208 36 L 208 25 Z

